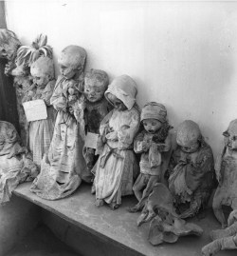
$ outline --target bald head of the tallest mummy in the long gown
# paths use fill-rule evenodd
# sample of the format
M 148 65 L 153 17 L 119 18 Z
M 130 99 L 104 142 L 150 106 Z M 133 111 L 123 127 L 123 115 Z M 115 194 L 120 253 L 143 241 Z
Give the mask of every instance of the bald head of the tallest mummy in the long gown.
M 73 78 L 76 74 L 81 74 L 84 69 L 86 51 L 79 46 L 68 46 L 64 48 L 59 56 L 58 62 L 60 72 L 66 79 Z

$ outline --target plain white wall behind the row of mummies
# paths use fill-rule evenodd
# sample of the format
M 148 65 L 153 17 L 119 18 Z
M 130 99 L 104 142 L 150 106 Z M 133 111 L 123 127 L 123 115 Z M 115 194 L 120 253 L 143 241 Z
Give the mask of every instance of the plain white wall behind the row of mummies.
M 237 3 L 9 1 L 9 30 L 23 44 L 48 35 L 55 59 L 76 44 L 86 69 L 137 81 L 137 102 L 163 103 L 176 127 L 197 122 L 214 154 L 237 118 Z

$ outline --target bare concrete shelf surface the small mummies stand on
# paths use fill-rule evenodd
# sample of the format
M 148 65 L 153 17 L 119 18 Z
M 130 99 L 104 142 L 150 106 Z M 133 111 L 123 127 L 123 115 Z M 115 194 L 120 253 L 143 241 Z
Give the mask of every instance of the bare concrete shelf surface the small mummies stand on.
M 149 224 L 137 227 L 139 214 L 126 211 L 126 207 L 136 203 L 134 197 L 123 198 L 121 207 L 113 211 L 106 206 L 94 205 L 95 196 L 90 193 L 88 185 L 82 184 L 73 195 L 57 201 L 41 199 L 31 193 L 29 187 L 30 183 L 22 184 L 14 190 L 14 194 L 100 237 L 104 243 L 123 247 L 127 251 L 126 255 L 198 256 L 201 255 L 201 247 L 210 243 L 210 230 L 220 228 L 210 210 L 206 212 L 205 218 L 191 220 L 204 229 L 201 237 L 182 237 L 176 244 L 152 246 L 147 241 Z M 234 256 L 236 250 L 218 254 L 218 256 L 224 255 Z

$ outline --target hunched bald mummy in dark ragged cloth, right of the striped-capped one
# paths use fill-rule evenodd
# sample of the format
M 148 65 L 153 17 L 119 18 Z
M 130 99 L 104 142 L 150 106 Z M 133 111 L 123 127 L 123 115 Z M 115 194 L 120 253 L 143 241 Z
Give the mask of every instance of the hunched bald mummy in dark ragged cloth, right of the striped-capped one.
M 186 120 L 177 128 L 177 148 L 170 162 L 169 188 L 181 218 L 205 207 L 214 186 L 213 155 L 196 123 Z

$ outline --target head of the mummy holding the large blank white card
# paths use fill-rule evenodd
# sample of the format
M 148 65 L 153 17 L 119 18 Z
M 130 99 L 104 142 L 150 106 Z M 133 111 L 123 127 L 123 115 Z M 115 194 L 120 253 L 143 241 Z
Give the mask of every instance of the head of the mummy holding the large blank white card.
M 42 88 L 45 88 L 50 80 L 54 79 L 53 60 L 41 56 L 30 66 L 30 73 L 33 76 L 33 82 Z

